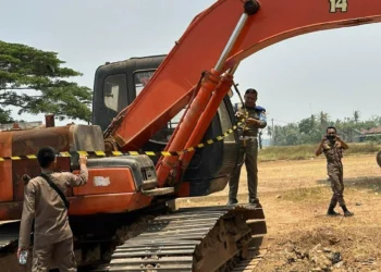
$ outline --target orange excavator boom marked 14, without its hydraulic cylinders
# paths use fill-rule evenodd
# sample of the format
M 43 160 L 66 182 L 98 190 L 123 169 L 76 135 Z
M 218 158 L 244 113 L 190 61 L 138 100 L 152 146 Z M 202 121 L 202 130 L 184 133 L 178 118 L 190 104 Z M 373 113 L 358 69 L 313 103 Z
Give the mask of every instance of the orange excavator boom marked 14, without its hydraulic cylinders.
M 258 3 L 259 11 L 247 18 L 221 71 L 297 35 L 381 21 L 379 0 Z M 242 0 L 219 0 L 194 18 L 142 94 L 120 113 L 120 124 L 111 125 L 111 134 L 121 149 L 137 150 L 188 104 L 201 72 L 217 65 L 243 13 Z

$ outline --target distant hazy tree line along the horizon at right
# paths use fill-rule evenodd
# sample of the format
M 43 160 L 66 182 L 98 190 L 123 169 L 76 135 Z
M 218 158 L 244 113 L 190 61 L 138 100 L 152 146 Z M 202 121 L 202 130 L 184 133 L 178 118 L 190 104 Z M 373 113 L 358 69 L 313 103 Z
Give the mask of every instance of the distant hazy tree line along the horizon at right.
M 361 141 L 359 138 L 362 129 L 381 126 L 381 116 L 374 115 L 369 120 L 360 120 L 360 112 L 354 111 L 344 120 L 331 120 L 329 113 L 319 112 L 303 119 L 297 123 L 286 125 L 268 125 L 267 133 L 272 146 L 296 146 L 317 144 L 325 135 L 328 126 L 335 126 L 337 134 L 346 141 Z M 380 136 L 367 137 L 367 140 L 381 140 Z

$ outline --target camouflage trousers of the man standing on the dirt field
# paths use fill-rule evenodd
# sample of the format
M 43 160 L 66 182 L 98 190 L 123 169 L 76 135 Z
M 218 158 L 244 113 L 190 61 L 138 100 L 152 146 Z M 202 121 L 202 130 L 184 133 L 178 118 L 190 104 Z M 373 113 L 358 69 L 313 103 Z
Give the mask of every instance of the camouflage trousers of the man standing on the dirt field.
M 331 187 L 332 187 L 332 198 L 331 205 L 336 206 L 337 202 L 340 206 L 345 206 L 344 201 L 344 183 L 343 183 L 343 165 L 332 165 L 328 164 L 327 166 L 328 175 L 330 176 Z

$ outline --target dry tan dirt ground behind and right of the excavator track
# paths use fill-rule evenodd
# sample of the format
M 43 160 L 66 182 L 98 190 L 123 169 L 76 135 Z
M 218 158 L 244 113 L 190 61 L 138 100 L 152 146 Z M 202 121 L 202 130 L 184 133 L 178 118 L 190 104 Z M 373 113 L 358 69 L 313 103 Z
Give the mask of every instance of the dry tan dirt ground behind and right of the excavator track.
M 381 271 L 381 169 L 376 154 L 347 157 L 343 163 L 352 218 L 325 215 L 332 193 L 324 160 L 259 163 L 269 250 L 256 271 Z M 246 182 L 242 171 L 242 202 L 247 201 Z M 224 205 L 226 194 L 228 188 L 180 203 Z

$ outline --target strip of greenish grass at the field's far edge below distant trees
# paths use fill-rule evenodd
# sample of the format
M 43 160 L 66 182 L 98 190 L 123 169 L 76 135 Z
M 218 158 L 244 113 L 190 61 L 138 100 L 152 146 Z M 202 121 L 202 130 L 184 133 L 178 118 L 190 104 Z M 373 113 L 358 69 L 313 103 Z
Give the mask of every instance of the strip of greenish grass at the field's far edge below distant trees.
M 316 158 L 315 150 L 317 145 L 265 147 L 258 153 L 259 161 L 275 160 L 306 160 Z M 381 150 L 381 145 L 376 143 L 349 143 L 349 149 L 345 150 L 344 156 L 376 153 Z M 324 157 L 322 154 L 322 157 Z M 376 157 L 374 157 L 376 158 Z

